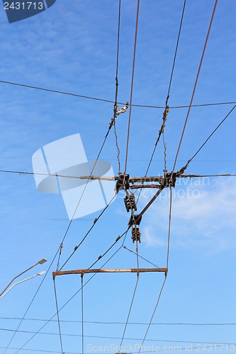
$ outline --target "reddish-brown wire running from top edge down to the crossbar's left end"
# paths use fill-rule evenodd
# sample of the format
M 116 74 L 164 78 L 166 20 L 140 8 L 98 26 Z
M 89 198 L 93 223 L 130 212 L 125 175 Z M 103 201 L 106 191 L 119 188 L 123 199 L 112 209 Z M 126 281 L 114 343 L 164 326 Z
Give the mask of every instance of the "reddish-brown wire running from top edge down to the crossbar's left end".
M 131 120 L 132 102 L 133 102 L 133 80 L 134 80 L 134 76 L 135 76 L 135 56 L 136 56 L 137 28 L 138 28 L 139 12 L 140 12 L 140 0 L 137 0 L 137 12 L 136 12 L 136 23 L 135 23 L 135 42 L 134 42 L 134 49 L 133 49 L 133 68 L 132 68 L 131 88 L 130 88 L 130 110 L 129 110 L 129 119 L 128 119 L 128 132 L 127 132 L 127 142 L 126 142 L 124 174 L 126 173 L 127 163 L 128 163 L 128 146 L 129 146 L 129 140 L 130 140 L 130 120 Z

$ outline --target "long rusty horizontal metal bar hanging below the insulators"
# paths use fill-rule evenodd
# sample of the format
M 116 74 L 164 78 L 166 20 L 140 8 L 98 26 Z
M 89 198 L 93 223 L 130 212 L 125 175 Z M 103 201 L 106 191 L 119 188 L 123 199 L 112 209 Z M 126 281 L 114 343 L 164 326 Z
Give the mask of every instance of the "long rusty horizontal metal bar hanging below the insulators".
M 68 274 L 86 274 L 86 273 L 148 273 L 163 272 L 167 273 L 167 268 L 128 268 L 128 269 L 77 269 L 52 272 L 53 277 L 57 275 Z

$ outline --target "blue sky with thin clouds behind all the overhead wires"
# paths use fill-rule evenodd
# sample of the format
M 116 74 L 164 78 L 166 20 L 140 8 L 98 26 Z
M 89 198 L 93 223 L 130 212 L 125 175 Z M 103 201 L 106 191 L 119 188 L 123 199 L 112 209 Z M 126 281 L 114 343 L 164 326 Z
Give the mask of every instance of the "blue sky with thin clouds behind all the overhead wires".
M 118 101 L 125 103 L 130 100 L 137 2 L 123 0 L 121 3 Z M 170 106 L 188 105 L 190 102 L 214 3 L 213 0 L 186 1 Z M 183 1 L 180 0 L 140 1 L 133 91 L 135 104 L 165 104 L 182 6 Z M 114 100 L 117 0 L 57 0 L 47 11 L 11 24 L 3 7 L 0 10 L 1 81 Z M 218 1 L 193 104 L 235 101 L 235 15 L 235 1 Z M 76 133 L 82 137 L 88 159 L 96 159 L 113 116 L 113 103 L 3 83 L 0 83 L 0 89 L 1 170 L 32 171 L 31 157 L 38 149 Z M 232 106 L 211 105 L 191 109 L 176 170 L 186 164 Z M 162 124 L 162 113 L 163 109 L 133 107 L 127 169 L 130 176 L 145 175 Z M 234 111 L 215 132 L 189 164 L 186 173 L 236 173 L 235 114 Z M 168 171 L 172 171 L 185 118 L 186 108 L 169 111 L 165 129 Z M 116 124 L 123 171 L 128 112 L 119 115 Z M 115 137 L 111 130 L 101 159 L 111 162 L 115 174 L 118 173 L 116 155 Z M 164 154 L 160 141 L 149 175 L 162 175 L 163 169 Z M 27 276 L 47 270 L 69 220 L 61 195 L 39 193 L 33 176 L 1 173 L 0 190 L 0 283 L 4 289 L 14 276 L 40 258 L 47 258 L 47 263 L 38 265 Z M 138 211 L 153 193 L 153 190 L 142 193 Z M 144 346 L 154 345 L 163 349 L 177 345 L 185 348 L 191 343 L 193 347 L 205 343 L 235 343 L 233 325 L 186 325 L 236 323 L 235 178 L 182 179 L 176 183 L 172 194 L 169 275 Z M 61 265 L 98 215 L 96 212 L 72 222 L 64 241 Z M 164 190 L 140 224 L 140 255 L 159 267 L 166 265 L 168 216 L 169 192 Z M 125 232 L 129 218 L 123 204 L 123 193 L 120 193 L 65 269 L 89 267 L 118 235 Z M 135 251 L 130 237 L 128 232 L 125 246 Z M 96 267 L 101 267 L 121 244 L 117 244 Z M 133 253 L 120 249 L 106 268 L 135 268 L 136 264 Z M 148 267 L 149 264 L 140 260 L 140 266 Z M 61 353 L 57 321 L 50 321 L 42 329 L 44 333 L 38 333 L 24 346 L 45 324 L 44 320 L 56 312 L 52 282 L 52 271 L 56 267 L 57 258 L 6 350 L 7 354 L 16 353 L 22 346 L 20 353 Z M 103 322 L 84 323 L 84 353 L 91 353 L 91 347 L 94 348 L 93 353 L 98 353 L 96 349 L 99 346 L 120 345 L 118 338 L 123 334 L 136 278 L 135 274 L 98 274 L 84 287 L 84 321 Z M 89 275 L 84 276 L 84 281 L 87 279 Z M 18 327 L 19 319 L 28 309 L 41 280 L 42 277 L 36 277 L 24 282 L 1 299 L 1 353 L 8 346 L 12 331 Z M 163 280 L 162 273 L 140 275 L 130 314 L 130 322 L 136 324 L 128 324 L 124 346 L 142 343 L 147 329 L 145 324 L 150 321 Z M 56 278 L 59 307 L 78 292 L 80 285 L 79 275 Z M 60 319 L 64 353 L 82 353 L 80 292 L 62 309 Z M 204 348 L 197 348 L 204 351 Z M 233 352 L 235 348 L 212 347 L 212 351 Z M 116 351 L 105 350 L 105 353 Z

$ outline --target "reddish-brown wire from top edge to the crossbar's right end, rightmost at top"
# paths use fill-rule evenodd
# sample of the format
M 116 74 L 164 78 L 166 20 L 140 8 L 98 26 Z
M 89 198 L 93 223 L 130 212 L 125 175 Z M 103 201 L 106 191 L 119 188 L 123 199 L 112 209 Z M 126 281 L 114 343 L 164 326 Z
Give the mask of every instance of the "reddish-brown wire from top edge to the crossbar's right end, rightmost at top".
M 195 83 L 194 83 L 194 86 L 193 86 L 193 93 L 192 93 L 192 96 L 191 96 L 191 101 L 189 103 L 189 109 L 188 109 L 188 112 L 187 112 L 187 115 L 186 115 L 183 131 L 182 131 L 181 138 L 180 138 L 180 141 L 179 141 L 179 147 L 178 147 L 177 152 L 176 152 L 176 157 L 175 157 L 175 160 L 174 160 L 174 166 L 173 166 L 173 169 L 172 169 L 172 173 L 174 172 L 174 169 L 175 169 L 175 166 L 176 166 L 176 161 L 177 161 L 178 156 L 179 156 L 179 150 L 180 150 L 181 143 L 182 143 L 182 140 L 183 140 L 183 137 L 184 137 L 184 132 L 185 132 L 185 129 L 186 129 L 186 124 L 187 124 L 188 119 L 189 119 L 189 113 L 190 113 L 190 110 L 191 110 L 191 105 L 193 103 L 193 98 L 194 98 L 194 95 L 195 95 L 196 86 L 198 84 L 198 77 L 199 77 L 199 74 L 201 72 L 201 66 L 203 64 L 203 58 L 204 58 L 204 55 L 205 55 L 205 52 L 206 52 L 206 46 L 208 44 L 208 38 L 209 38 L 209 35 L 210 35 L 210 29 L 211 29 L 211 26 L 212 26 L 212 23 L 213 23 L 213 18 L 215 16 L 215 8 L 217 6 L 217 3 L 218 3 L 218 0 L 215 0 L 215 5 L 214 5 L 214 8 L 213 8 L 213 13 L 212 13 L 211 18 L 210 18 L 210 25 L 208 27 L 208 33 L 206 35 L 206 40 L 205 40 L 205 44 L 204 44 L 204 47 L 203 47 L 203 52 L 202 52 L 202 55 L 201 55 L 201 60 L 200 60 L 200 64 L 199 64 L 199 67 L 198 67 L 196 80 L 195 80 Z

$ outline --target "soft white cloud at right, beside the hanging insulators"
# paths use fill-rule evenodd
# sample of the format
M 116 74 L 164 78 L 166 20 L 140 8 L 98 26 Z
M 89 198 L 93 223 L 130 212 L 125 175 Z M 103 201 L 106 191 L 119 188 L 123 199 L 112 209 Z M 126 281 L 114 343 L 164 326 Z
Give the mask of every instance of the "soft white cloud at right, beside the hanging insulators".
M 169 195 L 154 202 L 142 218 L 146 246 L 167 244 Z M 160 195 L 161 197 L 161 195 Z M 142 204 L 147 203 L 142 198 Z M 172 246 L 203 247 L 218 253 L 236 246 L 236 185 L 233 178 L 214 178 L 209 185 L 172 189 Z

